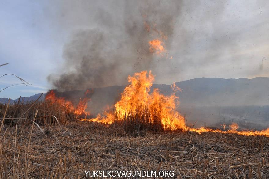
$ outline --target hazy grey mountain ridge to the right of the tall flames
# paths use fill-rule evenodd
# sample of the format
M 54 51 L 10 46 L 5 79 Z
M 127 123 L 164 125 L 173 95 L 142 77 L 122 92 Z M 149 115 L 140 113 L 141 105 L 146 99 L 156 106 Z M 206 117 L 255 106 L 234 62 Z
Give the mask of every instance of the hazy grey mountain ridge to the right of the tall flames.
M 182 89 L 184 105 L 269 105 L 269 78 L 195 78 L 176 85 Z

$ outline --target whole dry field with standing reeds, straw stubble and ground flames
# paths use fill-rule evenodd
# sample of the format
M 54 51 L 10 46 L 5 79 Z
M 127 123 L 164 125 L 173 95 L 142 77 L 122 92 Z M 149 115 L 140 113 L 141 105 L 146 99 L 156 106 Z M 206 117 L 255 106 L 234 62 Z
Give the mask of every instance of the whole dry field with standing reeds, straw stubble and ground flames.
M 119 101 L 97 117 L 87 111 L 90 90 L 77 105 L 53 90 L 44 102 L 1 105 L 1 178 L 85 178 L 84 170 L 268 178 L 269 129 L 189 127 L 177 112 L 179 98 L 150 92 L 153 81 L 151 72 L 129 76 Z

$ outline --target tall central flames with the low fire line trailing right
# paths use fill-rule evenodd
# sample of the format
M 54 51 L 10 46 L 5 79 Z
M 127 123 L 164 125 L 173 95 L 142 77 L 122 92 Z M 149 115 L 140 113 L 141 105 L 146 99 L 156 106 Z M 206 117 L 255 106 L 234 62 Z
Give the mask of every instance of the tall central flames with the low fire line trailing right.
M 140 73 L 135 73 L 134 76 L 129 76 L 128 82 L 130 84 L 124 89 L 120 101 L 114 106 L 115 110 L 113 110 L 113 112 L 105 111 L 103 115 L 98 114 L 96 118 L 82 120 L 112 124 L 115 120 L 114 114 L 117 114 L 118 119 L 121 120 L 124 119 L 128 113 L 132 112 L 134 109 L 138 109 L 139 106 L 142 106 L 149 109 L 152 122 L 154 122 L 155 119 L 161 120 L 164 129 L 182 129 L 183 131 L 192 131 L 199 134 L 203 132 L 218 132 L 223 134 L 234 133 L 238 135 L 260 135 L 269 137 L 269 128 L 262 131 L 237 131 L 239 126 L 236 123 L 229 125 L 231 129 L 227 131 L 204 127 L 189 128 L 185 125 L 184 118 L 176 111 L 176 108 L 179 105 L 179 100 L 175 95 L 175 92 L 181 89 L 173 83 L 171 89 L 174 93 L 172 93 L 171 96 L 160 94 L 158 89 L 154 89 L 153 92 L 149 94 L 153 81 L 153 74 L 151 74 L 151 72 L 147 73 L 147 71 L 142 71 Z M 226 124 L 223 124 L 222 126 L 225 129 Z

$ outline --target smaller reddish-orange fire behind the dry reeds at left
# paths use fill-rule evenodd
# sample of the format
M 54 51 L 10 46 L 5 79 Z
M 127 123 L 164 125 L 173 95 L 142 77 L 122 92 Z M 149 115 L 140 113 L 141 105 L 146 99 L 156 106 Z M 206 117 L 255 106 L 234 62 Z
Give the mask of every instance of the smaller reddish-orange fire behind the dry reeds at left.
M 89 92 L 89 90 L 85 92 L 85 97 L 79 100 L 79 104 L 76 108 L 71 101 L 65 100 L 64 97 L 56 97 L 54 90 L 50 90 L 50 92 L 47 93 L 45 100 L 50 101 L 51 103 L 58 103 L 59 105 L 68 108 L 70 111 L 73 111 L 76 115 L 89 115 L 90 113 L 85 111 L 88 106 L 88 101 L 90 100 L 86 97 Z

